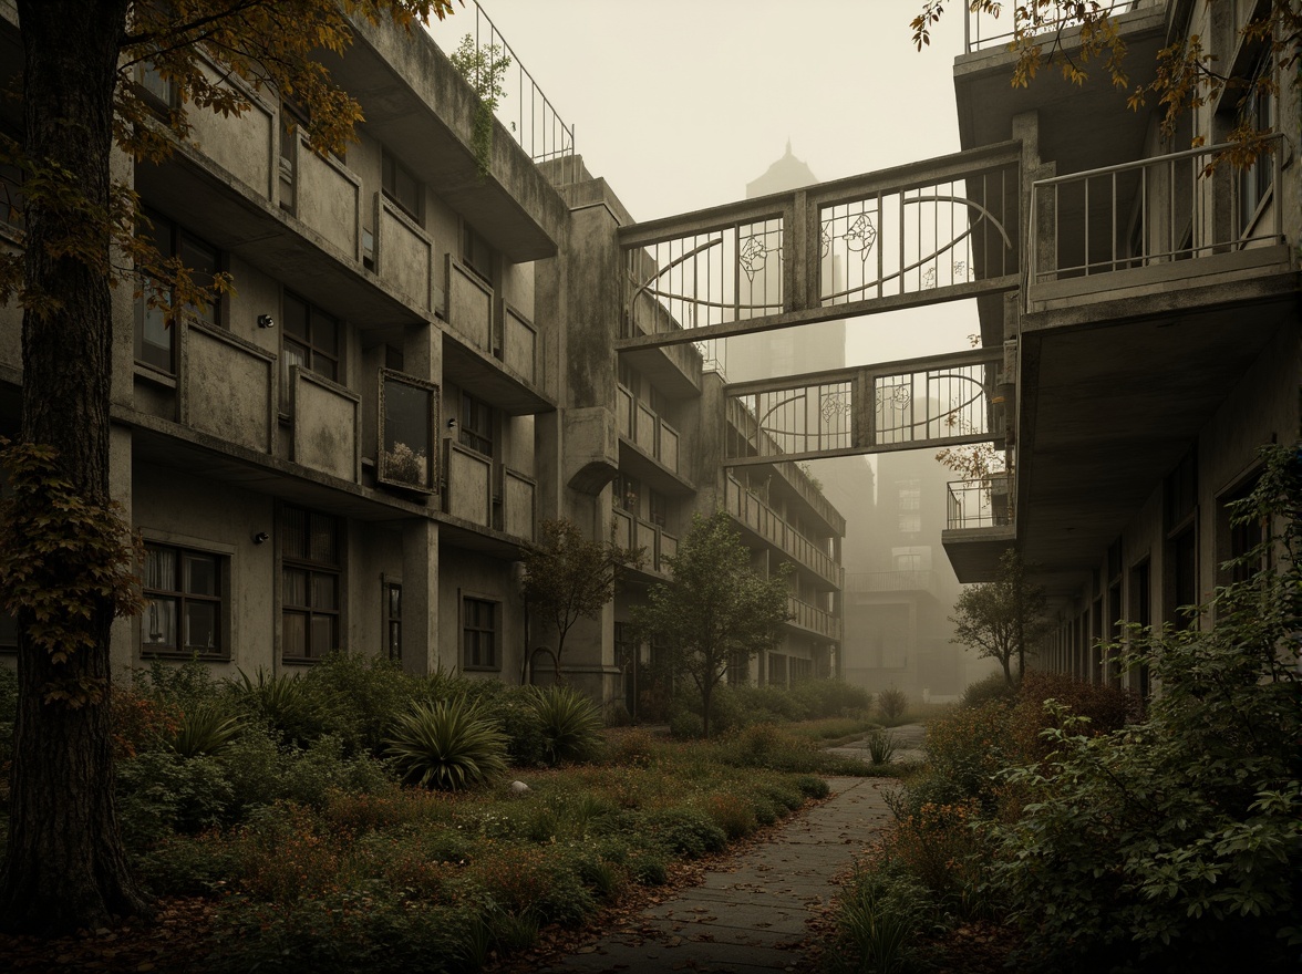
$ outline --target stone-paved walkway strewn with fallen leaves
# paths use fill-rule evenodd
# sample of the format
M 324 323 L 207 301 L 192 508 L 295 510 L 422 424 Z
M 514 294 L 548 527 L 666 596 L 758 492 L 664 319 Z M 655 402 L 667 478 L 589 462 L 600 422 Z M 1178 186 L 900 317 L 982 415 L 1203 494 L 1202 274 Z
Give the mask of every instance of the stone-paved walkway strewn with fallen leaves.
M 893 733 L 911 750 L 922 727 Z M 863 757 L 849 745 L 836 753 Z M 906 751 L 897 754 L 910 757 Z M 650 906 L 595 944 L 540 969 L 551 974 L 759 974 L 794 970 L 806 957 L 806 922 L 836 893 L 832 876 L 846 869 L 891 820 L 883 789 L 893 779 L 829 777 L 832 797 L 706 874 L 695 887 Z

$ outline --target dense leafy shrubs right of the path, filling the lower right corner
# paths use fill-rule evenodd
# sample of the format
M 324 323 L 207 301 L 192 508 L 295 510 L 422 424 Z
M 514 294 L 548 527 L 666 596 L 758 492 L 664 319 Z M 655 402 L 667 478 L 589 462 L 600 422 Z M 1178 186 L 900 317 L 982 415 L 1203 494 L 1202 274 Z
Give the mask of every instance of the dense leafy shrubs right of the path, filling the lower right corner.
M 1302 956 L 1302 461 L 1276 449 L 1236 512 L 1241 581 L 1131 628 L 1160 693 L 1029 673 L 928 727 L 926 771 L 840 898 L 842 960 L 928 970 L 956 932 L 1010 928 L 1023 971 L 1297 970 Z M 1264 570 L 1263 570 L 1264 569 Z M 969 940 L 970 943 L 970 940 Z

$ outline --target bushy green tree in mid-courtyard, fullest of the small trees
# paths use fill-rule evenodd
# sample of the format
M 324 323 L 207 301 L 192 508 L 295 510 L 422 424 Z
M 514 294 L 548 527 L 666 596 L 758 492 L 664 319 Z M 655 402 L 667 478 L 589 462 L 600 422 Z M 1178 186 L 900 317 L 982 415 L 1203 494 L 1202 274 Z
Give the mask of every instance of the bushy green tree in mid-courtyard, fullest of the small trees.
M 678 553 L 665 560 L 673 576 L 651 587 L 634 624 L 641 638 L 668 650 L 673 673 L 690 677 L 700 691 L 708 737 L 711 698 L 729 664 L 773 646 L 777 626 L 789 619 L 790 569 L 783 565 L 767 578 L 753 569 L 750 551 L 721 510 L 697 514 Z

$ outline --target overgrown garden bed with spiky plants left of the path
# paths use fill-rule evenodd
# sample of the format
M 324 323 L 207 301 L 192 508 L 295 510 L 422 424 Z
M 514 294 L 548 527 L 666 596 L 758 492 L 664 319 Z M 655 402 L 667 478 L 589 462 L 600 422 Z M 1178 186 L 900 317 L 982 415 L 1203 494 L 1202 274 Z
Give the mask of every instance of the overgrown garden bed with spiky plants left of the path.
M 845 716 L 788 728 L 734 701 L 729 733 L 680 742 L 605 732 L 566 688 L 355 655 L 232 681 L 155 665 L 113 697 L 118 816 L 155 896 L 215 905 L 204 970 L 474 971 L 823 797 L 818 775 L 866 773 L 820 750 L 866 725 L 841 686 L 792 695 L 762 698 Z

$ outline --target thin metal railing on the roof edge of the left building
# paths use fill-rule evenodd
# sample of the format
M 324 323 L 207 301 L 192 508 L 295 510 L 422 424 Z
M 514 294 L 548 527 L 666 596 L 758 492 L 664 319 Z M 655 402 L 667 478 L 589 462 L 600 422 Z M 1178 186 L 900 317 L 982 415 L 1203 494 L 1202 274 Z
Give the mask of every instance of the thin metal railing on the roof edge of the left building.
M 454 26 L 460 27 L 461 16 L 453 21 Z M 503 94 L 497 98 L 495 113 L 521 148 L 529 152 L 529 158 L 535 163 L 561 158 L 575 159 L 574 126 L 565 124 L 478 0 L 475 0 L 475 25 L 471 36 L 475 44 L 475 60 L 466 81 L 477 91 L 488 85 L 488 78 L 483 77 L 483 73 L 492 72 L 504 59 L 509 59 L 499 79 Z

